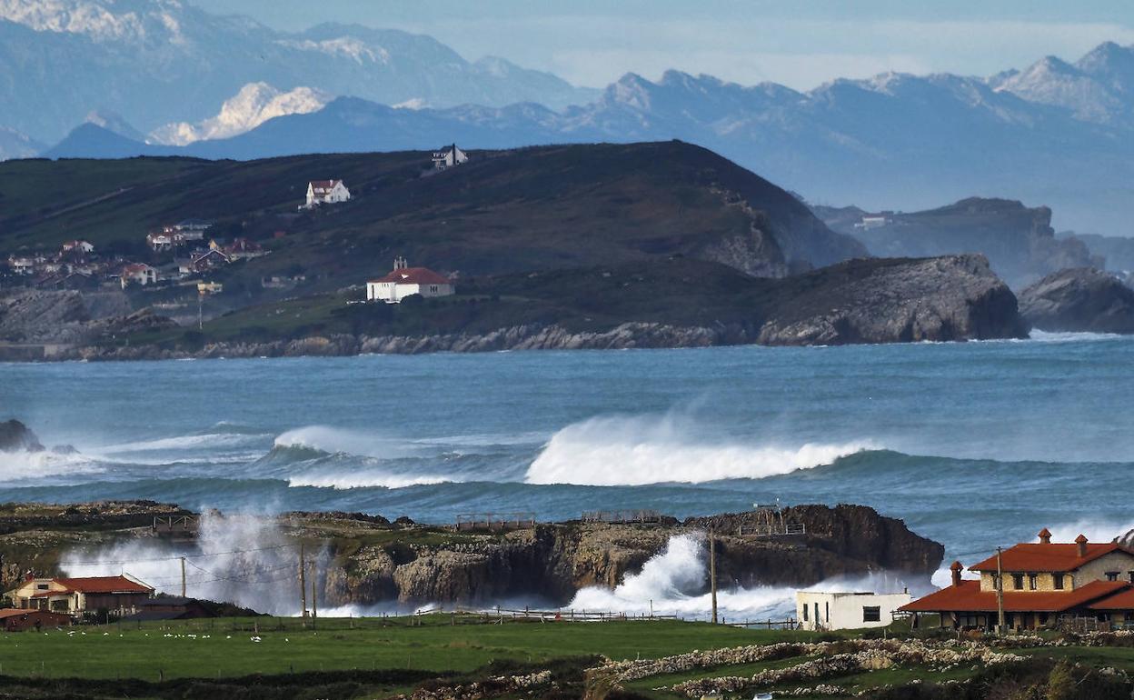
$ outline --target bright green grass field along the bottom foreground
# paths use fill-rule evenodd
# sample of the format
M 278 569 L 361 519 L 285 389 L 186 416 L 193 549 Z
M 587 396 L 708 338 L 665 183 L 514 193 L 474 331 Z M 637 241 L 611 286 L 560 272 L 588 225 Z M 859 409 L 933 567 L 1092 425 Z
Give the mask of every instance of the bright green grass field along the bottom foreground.
M 899 632 L 899 626 L 894 631 Z M 506 619 L 503 624 L 494 624 L 490 617 L 448 614 L 321 618 L 314 629 L 296 618 L 272 617 L 112 624 L 0 634 L 0 698 L 384 698 L 423 685 L 456 685 L 542 669 L 551 671 L 557 678 L 558 694 L 539 697 L 569 698 L 594 692 L 593 678 L 587 678 L 584 672 L 599 666 L 601 657 L 651 659 L 694 650 L 855 636 L 854 632 L 821 635 L 662 619 L 606 623 Z M 1081 664 L 1075 668 L 1084 680 L 1097 676 L 1092 669 L 1101 667 L 1134 672 L 1131 648 L 1068 644 L 1012 651 L 1030 660 L 1017 661 L 1007 671 L 992 671 L 979 664 L 950 667 L 903 664 L 821 681 L 852 695 L 885 686 L 920 689 L 928 684 L 926 688 L 948 689 L 933 683 L 989 683 L 989 677 L 1002 675 L 1010 676 L 1010 682 L 1017 685 L 1025 681 L 1034 684 L 1035 678 L 1047 682 L 1059 659 Z M 676 699 L 684 695 L 668 689 L 677 683 L 720 676 L 751 677 L 764 669 L 784 669 L 816 658 L 790 656 L 662 673 L 628 681 L 623 690 L 609 697 Z M 1115 678 L 1120 676 L 1107 682 L 1119 682 Z M 782 683 L 773 690 L 812 688 L 816 682 Z M 1102 691 L 1092 683 L 1084 685 L 1092 695 L 1060 697 L 1111 697 L 1100 695 Z

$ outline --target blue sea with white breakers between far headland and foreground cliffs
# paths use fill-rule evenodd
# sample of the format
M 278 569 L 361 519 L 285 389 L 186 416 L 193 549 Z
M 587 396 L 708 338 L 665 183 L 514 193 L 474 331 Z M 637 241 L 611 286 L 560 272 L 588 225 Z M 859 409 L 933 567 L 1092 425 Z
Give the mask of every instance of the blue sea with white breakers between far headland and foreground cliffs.
M 1132 368 L 1132 337 L 1041 332 L 0 364 L 0 420 L 19 419 L 51 448 L 0 453 L 0 501 L 144 498 L 231 515 L 347 511 L 440 524 L 845 503 L 943 543 L 946 565 L 974 563 L 1044 526 L 1066 541 L 1134 528 Z M 694 610 L 703 555 L 696 538 L 675 538 L 629 588 L 584 591 L 579 604 L 649 597 L 659 610 L 666 600 Z M 108 562 L 120 570 L 116 556 Z M 933 583 L 947 577 L 942 568 Z M 916 582 L 874 588 L 899 583 Z M 759 593 L 764 607 L 734 601 L 753 614 L 787 596 L 735 593 Z

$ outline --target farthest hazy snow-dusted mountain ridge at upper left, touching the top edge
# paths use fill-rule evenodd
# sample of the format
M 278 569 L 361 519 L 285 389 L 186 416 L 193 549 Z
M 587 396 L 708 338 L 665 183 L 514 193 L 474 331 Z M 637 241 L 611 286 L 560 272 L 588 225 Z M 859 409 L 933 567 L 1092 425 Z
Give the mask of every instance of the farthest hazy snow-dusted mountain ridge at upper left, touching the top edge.
M 92 110 L 127 115 L 144 133 L 197 125 L 252 83 L 437 107 L 562 108 L 595 94 L 392 29 L 282 33 L 179 0 L 0 0 L 0 125 L 40 141 L 58 141 Z

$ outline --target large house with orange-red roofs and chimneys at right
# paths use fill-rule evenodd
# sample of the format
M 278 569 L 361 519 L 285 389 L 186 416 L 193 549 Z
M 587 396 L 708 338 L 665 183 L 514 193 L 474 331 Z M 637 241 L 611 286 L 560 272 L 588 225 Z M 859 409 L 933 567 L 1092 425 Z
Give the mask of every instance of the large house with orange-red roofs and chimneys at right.
M 999 559 L 999 560 L 998 560 Z M 1117 542 L 1052 542 L 1047 528 L 1039 541 L 1009 547 L 968 567 L 979 580 L 950 566 L 951 584 L 902 606 L 917 616 L 940 615 L 945 627 L 991 630 L 1002 607 L 1005 626 L 1034 630 L 1060 618 L 1122 624 L 1134 621 L 1134 551 Z M 998 593 L 999 591 L 999 593 Z

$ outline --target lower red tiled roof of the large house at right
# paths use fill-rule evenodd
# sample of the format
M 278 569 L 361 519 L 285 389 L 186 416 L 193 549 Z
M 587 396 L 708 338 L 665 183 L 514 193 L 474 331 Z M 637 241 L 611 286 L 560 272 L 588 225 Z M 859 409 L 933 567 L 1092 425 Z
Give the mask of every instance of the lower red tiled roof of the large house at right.
M 1007 613 L 1059 613 L 1084 606 L 1105 596 L 1129 588 L 1124 581 L 1091 581 L 1069 591 L 1005 591 Z M 907 613 L 995 613 L 996 591 L 982 591 L 980 581 L 962 581 L 908 602 Z

